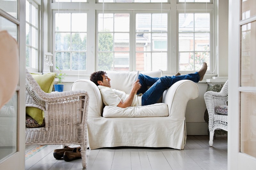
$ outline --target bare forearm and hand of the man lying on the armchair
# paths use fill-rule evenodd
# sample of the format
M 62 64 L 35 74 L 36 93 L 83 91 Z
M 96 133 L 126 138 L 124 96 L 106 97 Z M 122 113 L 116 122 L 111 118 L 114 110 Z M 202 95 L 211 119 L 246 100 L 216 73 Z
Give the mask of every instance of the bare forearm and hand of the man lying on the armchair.
M 117 107 L 126 108 L 126 107 L 132 106 L 132 101 L 133 101 L 134 95 L 138 92 L 140 87 L 141 87 L 141 84 L 139 83 L 139 79 L 137 81 L 133 82 L 132 90 L 129 94 L 129 97 L 124 102 L 120 101 L 120 103 L 117 105 Z

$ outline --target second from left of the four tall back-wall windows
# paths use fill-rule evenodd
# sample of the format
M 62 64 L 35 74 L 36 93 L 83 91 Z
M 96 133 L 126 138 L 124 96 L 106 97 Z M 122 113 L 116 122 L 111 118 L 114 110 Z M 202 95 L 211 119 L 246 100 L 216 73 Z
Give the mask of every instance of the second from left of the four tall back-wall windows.
M 98 70 L 129 70 L 130 13 L 98 14 Z

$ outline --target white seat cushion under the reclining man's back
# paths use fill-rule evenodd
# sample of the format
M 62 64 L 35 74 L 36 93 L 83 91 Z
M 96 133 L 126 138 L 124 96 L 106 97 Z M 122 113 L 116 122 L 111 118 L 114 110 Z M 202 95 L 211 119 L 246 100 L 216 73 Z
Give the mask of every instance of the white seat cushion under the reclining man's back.
M 168 115 L 168 106 L 165 103 L 126 108 L 105 106 L 103 109 L 103 117 L 159 117 Z

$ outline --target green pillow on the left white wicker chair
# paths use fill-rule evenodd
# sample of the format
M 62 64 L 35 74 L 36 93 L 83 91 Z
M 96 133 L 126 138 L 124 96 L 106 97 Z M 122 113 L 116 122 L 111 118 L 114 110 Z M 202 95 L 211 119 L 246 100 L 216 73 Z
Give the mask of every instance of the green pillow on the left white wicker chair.
M 46 93 L 52 92 L 52 86 L 56 73 L 48 74 L 31 74 L 41 89 Z M 36 120 L 38 124 L 42 124 L 44 120 L 44 111 L 36 107 L 26 107 L 26 114 Z

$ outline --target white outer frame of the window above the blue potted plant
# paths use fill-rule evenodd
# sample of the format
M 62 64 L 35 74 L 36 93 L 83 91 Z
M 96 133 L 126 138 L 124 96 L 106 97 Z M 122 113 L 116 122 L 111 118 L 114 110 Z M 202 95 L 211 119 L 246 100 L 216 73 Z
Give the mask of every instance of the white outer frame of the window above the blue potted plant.
M 88 63 L 88 30 L 89 30 L 89 24 L 88 24 L 88 10 L 53 10 L 52 11 L 52 54 L 53 54 L 53 59 L 52 59 L 52 63 L 53 63 L 53 67 L 52 67 L 52 71 L 53 72 L 58 72 L 58 70 L 56 69 L 56 65 L 55 65 L 55 60 L 56 60 L 56 56 L 55 56 L 55 14 L 56 13 L 86 13 L 87 14 L 87 32 L 86 32 L 86 70 L 63 70 L 63 72 L 68 73 L 68 74 L 88 74 L 91 71 L 88 70 L 88 67 L 91 63 Z M 69 33 L 69 32 L 68 32 Z M 72 31 L 70 30 L 70 33 L 72 33 Z M 71 53 L 70 53 L 71 55 Z M 71 59 L 70 59 L 71 60 Z M 70 67 L 72 67 L 72 65 L 70 65 Z M 90 67 L 89 67 L 90 68 Z M 71 68 L 70 68 L 71 69 Z

